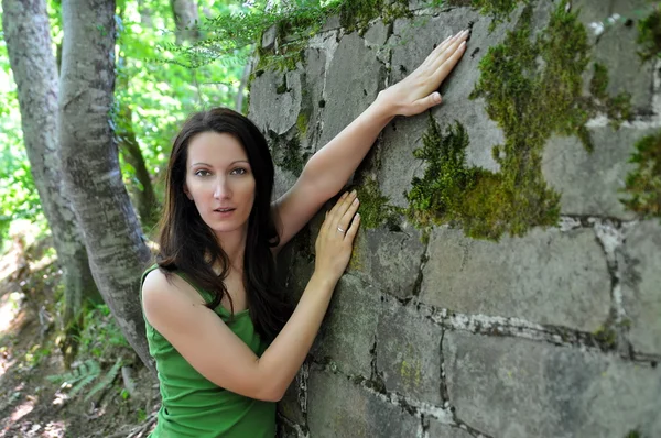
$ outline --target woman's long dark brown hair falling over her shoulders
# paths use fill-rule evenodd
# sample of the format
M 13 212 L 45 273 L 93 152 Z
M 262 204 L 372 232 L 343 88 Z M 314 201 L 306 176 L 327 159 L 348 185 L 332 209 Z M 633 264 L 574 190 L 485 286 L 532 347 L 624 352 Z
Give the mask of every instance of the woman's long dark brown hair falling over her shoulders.
M 272 340 L 291 315 L 291 308 L 278 286 L 275 262 L 271 253 L 271 248 L 279 243 L 271 213 L 273 161 L 262 133 L 240 113 L 226 108 L 194 113 L 176 135 L 167 164 L 165 205 L 160 222 L 161 248 L 156 263 L 167 277 L 173 271 L 183 272 L 198 287 L 209 292 L 213 300 L 207 303 L 207 307 L 212 309 L 227 295 L 234 314 L 234 303 L 225 285 L 229 274 L 229 258 L 199 216 L 195 204 L 184 193 L 188 144 L 203 132 L 235 135 L 248 155 L 256 193 L 248 218 L 243 285 L 256 330 L 262 339 Z M 212 269 L 216 263 L 223 267 L 219 275 Z

